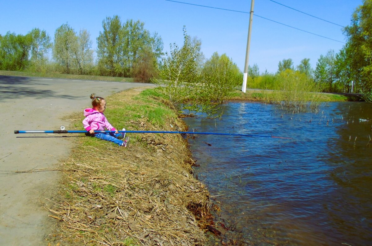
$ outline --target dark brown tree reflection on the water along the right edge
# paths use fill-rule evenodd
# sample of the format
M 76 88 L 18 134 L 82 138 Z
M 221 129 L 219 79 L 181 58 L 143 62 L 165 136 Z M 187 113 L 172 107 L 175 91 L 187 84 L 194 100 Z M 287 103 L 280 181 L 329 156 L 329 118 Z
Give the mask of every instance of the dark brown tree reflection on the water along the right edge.
M 365 103 L 339 103 L 333 111 L 344 114 L 344 120 L 336 129 L 337 138 L 328 142 L 331 155 L 325 161 L 334 166 L 329 174 L 334 190 L 325 211 L 344 240 L 363 244 L 372 239 L 371 234 L 360 233 L 372 226 L 372 151 L 368 145 L 372 109 Z M 348 237 L 343 235 L 345 230 Z

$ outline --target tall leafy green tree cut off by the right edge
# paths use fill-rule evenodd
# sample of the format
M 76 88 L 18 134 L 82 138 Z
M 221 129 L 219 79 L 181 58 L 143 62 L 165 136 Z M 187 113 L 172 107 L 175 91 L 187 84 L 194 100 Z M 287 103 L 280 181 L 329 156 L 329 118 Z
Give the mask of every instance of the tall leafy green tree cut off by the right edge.
M 363 0 L 352 15 L 352 23 L 344 29 L 347 36 L 352 80 L 363 93 L 372 94 L 372 0 Z

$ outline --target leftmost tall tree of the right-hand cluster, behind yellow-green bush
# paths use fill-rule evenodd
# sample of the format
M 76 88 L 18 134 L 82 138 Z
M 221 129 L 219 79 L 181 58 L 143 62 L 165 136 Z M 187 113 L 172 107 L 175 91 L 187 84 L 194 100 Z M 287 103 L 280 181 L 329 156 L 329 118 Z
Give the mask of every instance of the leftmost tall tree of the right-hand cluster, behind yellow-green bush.
M 328 50 L 327 55 L 320 55 L 314 72 L 315 82 L 328 92 L 332 91 L 332 84 L 336 81 L 335 59 L 333 49 Z

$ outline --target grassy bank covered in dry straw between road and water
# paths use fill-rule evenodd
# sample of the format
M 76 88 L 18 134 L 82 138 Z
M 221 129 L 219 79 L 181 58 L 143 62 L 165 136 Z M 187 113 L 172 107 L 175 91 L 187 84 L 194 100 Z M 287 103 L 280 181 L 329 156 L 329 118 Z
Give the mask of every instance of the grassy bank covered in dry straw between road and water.
M 106 98 L 118 129 L 180 130 L 185 125 L 152 90 Z M 88 105 L 87 105 L 88 106 Z M 83 129 L 82 113 L 67 130 Z M 61 245 L 203 245 L 209 193 L 190 175 L 187 142 L 176 134 L 128 134 L 129 147 L 78 137 L 61 162 L 61 187 L 47 207 L 58 223 L 47 242 Z

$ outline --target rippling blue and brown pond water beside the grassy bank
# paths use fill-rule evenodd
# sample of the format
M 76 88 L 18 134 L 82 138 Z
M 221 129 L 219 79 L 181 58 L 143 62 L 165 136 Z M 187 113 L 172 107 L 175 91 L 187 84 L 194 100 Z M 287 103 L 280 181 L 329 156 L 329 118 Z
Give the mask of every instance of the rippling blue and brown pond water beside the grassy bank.
M 221 208 L 217 225 L 243 245 L 370 245 L 371 104 L 328 103 L 317 113 L 292 113 L 230 103 L 221 120 L 185 119 L 189 131 L 292 137 L 189 139 L 200 165 L 194 171 Z

